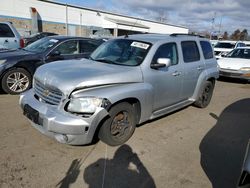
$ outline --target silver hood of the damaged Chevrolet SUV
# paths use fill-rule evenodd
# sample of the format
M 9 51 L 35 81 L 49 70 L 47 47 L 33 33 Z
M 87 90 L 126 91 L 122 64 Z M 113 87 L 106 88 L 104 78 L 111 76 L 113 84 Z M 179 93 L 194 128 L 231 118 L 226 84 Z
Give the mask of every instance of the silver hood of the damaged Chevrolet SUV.
M 34 78 L 44 85 L 59 89 L 65 95 L 78 88 L 143 81 L 140 66 L 112 65 L 88 59 L 43 65 L 37 69 Z

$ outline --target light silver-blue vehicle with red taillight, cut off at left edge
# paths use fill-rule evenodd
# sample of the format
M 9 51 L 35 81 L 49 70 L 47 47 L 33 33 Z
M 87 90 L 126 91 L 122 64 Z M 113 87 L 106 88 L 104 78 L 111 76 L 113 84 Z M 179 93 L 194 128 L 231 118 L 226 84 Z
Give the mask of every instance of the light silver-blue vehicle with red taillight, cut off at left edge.
M 24 40 L 10 22 L 0 22 L 0 51 L 24 47 Z

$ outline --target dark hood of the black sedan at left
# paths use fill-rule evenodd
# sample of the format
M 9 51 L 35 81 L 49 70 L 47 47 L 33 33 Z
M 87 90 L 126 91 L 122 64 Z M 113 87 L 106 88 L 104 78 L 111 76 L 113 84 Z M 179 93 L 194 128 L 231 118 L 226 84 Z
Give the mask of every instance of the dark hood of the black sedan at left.
M 25 57 L 33 55 L 34 53 L 25 51 L 23 49 L 17 49 L 17 50 L 4 50 L 0 51 L 0 59 L 10 59 L 10 58 L 16 58 L 16 57 Z

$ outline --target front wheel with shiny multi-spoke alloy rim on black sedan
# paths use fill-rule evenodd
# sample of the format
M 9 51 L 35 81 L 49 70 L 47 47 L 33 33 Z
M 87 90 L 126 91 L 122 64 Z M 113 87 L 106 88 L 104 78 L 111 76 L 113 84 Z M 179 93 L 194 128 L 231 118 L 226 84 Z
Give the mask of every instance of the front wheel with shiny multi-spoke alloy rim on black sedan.
M 2 78 L 2 89 L 12 95 L 20 94 L 31 87 L 31 75 L 22 68 L 8 70 Z

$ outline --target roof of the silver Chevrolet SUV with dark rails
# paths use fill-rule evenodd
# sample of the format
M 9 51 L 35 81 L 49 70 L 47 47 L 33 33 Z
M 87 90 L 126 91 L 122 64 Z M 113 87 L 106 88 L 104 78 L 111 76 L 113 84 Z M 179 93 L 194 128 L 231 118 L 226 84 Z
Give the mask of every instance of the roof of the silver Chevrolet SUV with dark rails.
M 190 38 L 197 38 L 201 37 L 198 35 L 189 35 L 189 34 L 135 34 L 135 35 L 128 35 L 128 36 L 123 36 L 119 38 L 128 38 L 128 39 L 134 39 L 134 40 L 140 40 L 140 41 L 145 41 L 149 43 L 156 43 L 161 40 L 167 40 L 167 39 L 173 39 L 173 37 L 188 37 Z

